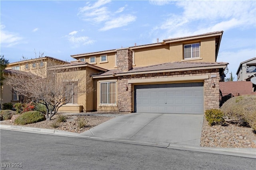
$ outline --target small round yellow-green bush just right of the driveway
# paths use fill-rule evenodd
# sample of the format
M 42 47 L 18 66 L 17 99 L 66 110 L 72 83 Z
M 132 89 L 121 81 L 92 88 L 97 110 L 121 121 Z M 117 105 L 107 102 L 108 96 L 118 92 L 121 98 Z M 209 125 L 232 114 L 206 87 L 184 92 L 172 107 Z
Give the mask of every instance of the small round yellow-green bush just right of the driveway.
M 220 109 L 209 109 L 205 111 L 205 118 L 210 126 L 222 125 L 224 120 L 224 114 Z

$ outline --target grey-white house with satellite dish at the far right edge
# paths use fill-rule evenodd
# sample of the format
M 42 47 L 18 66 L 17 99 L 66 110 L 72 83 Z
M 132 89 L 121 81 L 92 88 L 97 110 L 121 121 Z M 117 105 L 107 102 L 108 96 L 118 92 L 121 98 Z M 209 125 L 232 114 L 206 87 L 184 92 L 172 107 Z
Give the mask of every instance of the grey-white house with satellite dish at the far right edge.
M 243 61 L 239 64 L 236 75 L 237 81 L 250 81 L 253 77 L 252 74 L 256 75 L 256 69 L 250 73 L 247 68 L 250 66 L 256 66 L 256 57 Z

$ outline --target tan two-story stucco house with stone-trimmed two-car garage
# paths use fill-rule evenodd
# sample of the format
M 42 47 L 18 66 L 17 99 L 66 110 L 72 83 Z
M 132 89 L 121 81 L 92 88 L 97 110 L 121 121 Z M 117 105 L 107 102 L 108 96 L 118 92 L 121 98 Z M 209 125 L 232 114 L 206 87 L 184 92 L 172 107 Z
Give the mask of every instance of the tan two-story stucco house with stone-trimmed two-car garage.
M 59 110 L 203 114 L 218 108 L 219 82 L 228 64 L 216 62 L 222 34 L 71 55 L 76 61 L 62 66 L 92 76 L 95 90 L 74 96 Z

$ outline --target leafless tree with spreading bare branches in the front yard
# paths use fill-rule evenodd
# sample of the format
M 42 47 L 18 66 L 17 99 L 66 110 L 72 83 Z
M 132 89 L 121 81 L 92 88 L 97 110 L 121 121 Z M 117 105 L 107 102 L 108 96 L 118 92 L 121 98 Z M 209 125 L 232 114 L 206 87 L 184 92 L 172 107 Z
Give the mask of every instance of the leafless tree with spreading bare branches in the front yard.
M 40 62 L 41 57 L 36 59 L 36 68 L 31 68 L 28 72 L 12 72 L 7 84 L 18 95 L 46 106 L 47 120 L 50 120 L 63 104 L 76 103 L 78 96 L 93 91 L 92 78 L 85 76 L 85 70 L 67 64 L 58 65 L 58 61 L 54 59 L 44 63 L 47 64 L 44 66 L 40 65 Z

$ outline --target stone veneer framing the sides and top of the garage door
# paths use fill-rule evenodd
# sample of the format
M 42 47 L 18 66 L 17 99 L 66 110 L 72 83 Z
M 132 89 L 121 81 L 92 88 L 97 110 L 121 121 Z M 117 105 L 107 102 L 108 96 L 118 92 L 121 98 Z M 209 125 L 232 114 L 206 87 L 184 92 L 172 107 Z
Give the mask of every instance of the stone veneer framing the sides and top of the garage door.
M 217 75 L 215 78 L 211 78 L 210 75 Z M 218 69 L 208 70 L 192 70 L 192 71 L 180 71 L 180 72 L 163 72 L 152 74 L 138 74 L 129 76 L 118 76 L 118 111 L 133 112 L 133 84 L 128 84 L 128 80 L 136 79 L 149 79 L 149 78 L 167 78 L 167 77 L 181 77 L 181 76 L 200 76 L 209 75 L 209 79 L 204 80 L 204 109 L 219 108 L 220 104 L 220 74 Z M 175 83 L 175 82 L 166 82 Z M 215 87 L 212 87 L 212 83 Z M 135 84 L 136 85 L 136 84 Z M 128 88 L 128 89 L 127 89 Z

